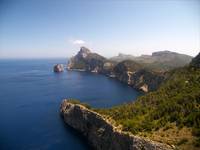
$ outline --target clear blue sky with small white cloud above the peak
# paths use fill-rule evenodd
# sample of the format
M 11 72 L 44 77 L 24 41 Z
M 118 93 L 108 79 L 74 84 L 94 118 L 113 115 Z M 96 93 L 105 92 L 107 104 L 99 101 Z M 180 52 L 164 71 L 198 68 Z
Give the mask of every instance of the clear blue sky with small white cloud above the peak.
M 200 51 L 200 0 L 0 0 L 0 58 Z

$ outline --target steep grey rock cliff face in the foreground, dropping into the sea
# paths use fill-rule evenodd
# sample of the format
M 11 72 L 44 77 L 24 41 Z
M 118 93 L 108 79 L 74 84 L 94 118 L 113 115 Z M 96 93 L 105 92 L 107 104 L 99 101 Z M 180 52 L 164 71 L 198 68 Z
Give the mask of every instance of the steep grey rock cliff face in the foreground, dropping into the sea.
M 170 146 L 147 140 L 114 127 L 100 114 L 64 100 L 60 113 L 65 123 L 80 131 L 97 150 L 170 150 Z

